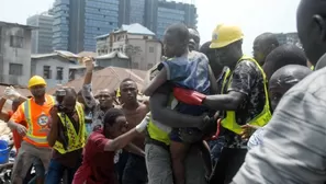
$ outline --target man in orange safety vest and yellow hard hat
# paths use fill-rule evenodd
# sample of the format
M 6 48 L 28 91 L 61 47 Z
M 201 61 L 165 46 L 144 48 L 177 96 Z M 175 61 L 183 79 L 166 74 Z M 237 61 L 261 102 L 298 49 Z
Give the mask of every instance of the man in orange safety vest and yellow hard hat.
M 49 164 L 52 149 L 46 140 L 47 122 L 49 110 L 55 104 L 55 100 L 45 94 L 45 88 L 46 82 L 42 77 L 32 77 L 29 81 L 29 89 L 33 97 L 21 104 L 8 122 L 8 126 L 23 137 L 12 170 L 12 183 L 14 184 L 23 183 L 33 161 L 40 159 L 45 170 Z M 22 122 L 26 122 L 27 126 L 23 126 Z

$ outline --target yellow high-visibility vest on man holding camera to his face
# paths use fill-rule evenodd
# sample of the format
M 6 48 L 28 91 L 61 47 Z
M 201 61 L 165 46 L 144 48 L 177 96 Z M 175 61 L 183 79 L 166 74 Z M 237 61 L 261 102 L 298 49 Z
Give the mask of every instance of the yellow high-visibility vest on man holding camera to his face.
M 85 127 L 85 112 L 83 112 L 82 105 L 77 102 L 75 110 L 77 111 L 78 118 L 79 118 L 78 133 L 76 133 L 76 129 L 71 120 L 68 118 L 68 116 L 63 113 L 58 113 L 61 125 L 67 129 L 66 133 L 68 137 L 68 140 L 67 140 L 68 145 L 67 145 L 67 149 L 65 149 L 61 142 L 56 141 L 53 148 L 61 154 L 82 149 L 86 143 L 87 134 L 86 134 L 86 127 Z

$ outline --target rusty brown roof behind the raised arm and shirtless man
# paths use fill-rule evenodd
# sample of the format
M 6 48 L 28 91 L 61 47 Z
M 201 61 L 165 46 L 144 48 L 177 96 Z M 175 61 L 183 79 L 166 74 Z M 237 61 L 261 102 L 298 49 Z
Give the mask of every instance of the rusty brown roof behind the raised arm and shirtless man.
M 116 90 L 120 85 L 120 82 L 126 78 L 133 79 L 138 89 L 140 90 L 144 84 L 144 79 L 147 71 L 142 70 L 130 70 L 119 67 L 108 67 L 102 70 L 95 71 L 92 78 L 92 89 L 94 93 L 102 89 Z M 65 84 L 65 87 L 74 87 L 76 91 L 81 90 L 83 83 L 83 77 L 72 80 Z M 53 94 L 57 88 L 50 89 L 49 94 Z

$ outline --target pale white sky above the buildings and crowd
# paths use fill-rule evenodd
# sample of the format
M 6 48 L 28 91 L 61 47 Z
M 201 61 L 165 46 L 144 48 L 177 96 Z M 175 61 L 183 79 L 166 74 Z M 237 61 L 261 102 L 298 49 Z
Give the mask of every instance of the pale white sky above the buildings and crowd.
M 295 12 L 299 1 L 195 0 L 202 43 L 211 39 L 212 31 L 217 24 L 233 23 L 243 28 L 244 50 L 246 54 L 251 54 L 252 42 L 260 33 L 296 31 Z M 0 0 L 0 21 L 25 24 L 27 16 L 48 10 L 54 0 Z

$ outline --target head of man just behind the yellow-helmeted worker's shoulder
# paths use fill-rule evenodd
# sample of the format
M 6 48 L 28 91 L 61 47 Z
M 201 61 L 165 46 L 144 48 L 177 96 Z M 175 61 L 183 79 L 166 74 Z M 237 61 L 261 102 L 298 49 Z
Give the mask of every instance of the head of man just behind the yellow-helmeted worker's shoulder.
M 276 34 L 262 33 L 254 41 L 254 58 L 260 66 L 263 66 L 267 56 L 277 47 L 279 47 L 279 41 Z

